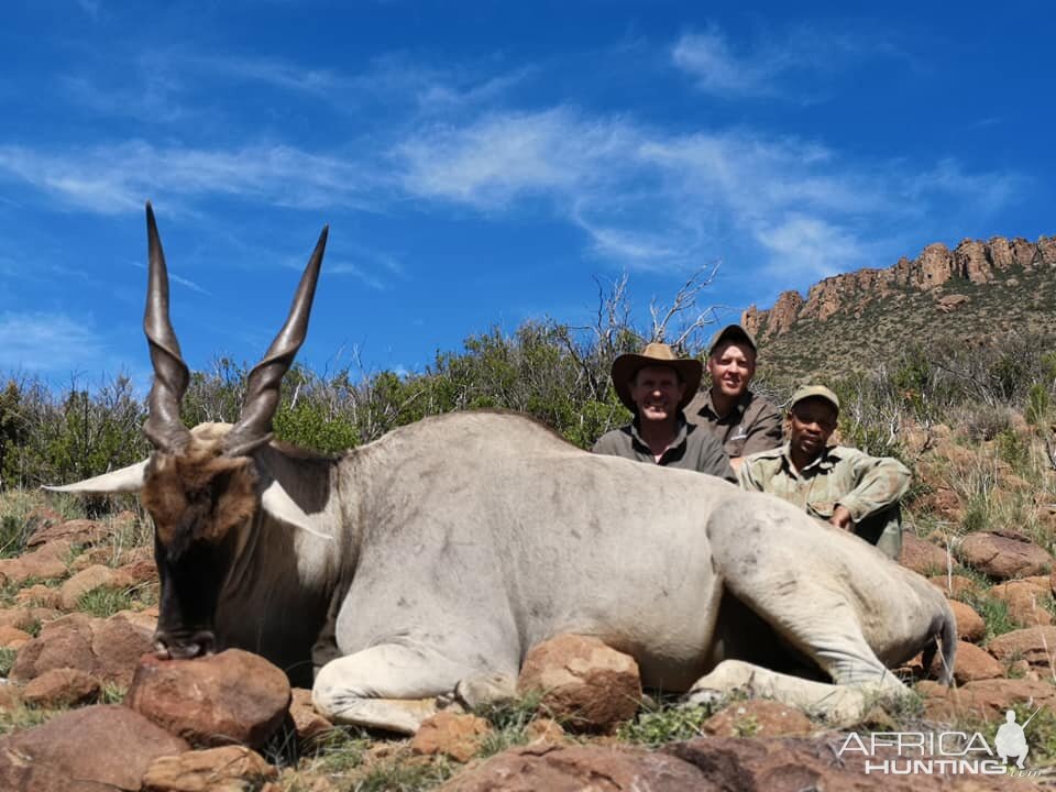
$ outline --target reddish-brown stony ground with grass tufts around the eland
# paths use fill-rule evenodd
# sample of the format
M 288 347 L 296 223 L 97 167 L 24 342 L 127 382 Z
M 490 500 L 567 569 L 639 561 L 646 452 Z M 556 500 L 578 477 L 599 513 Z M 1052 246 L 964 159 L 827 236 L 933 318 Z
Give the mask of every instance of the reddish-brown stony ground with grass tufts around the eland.
M 915 694 L 835 728 L 768 701 L 683 710 L 642 692 L 630 658 L 591 639 L 538 647 L 504 706 L 442 712 L 413 739 L 334 728 L 309 693 L 242 651 L 150 656 L 157 579 L 135 512 L 0 495 L 3 790 L 946 790 L 1056 784 L 1056 472 L 1019 419 L 982 439 L 904 428 L 917 483 L 902 563 L 949 597 L 956 685 L 920 662 Z M 985 437 L 987 432 L 982 433 Z M 81 513 L 82 515 L 82 513 Z M 1027 777 L 883 776 L 848 735 L 983 734 L 1014 708 Z

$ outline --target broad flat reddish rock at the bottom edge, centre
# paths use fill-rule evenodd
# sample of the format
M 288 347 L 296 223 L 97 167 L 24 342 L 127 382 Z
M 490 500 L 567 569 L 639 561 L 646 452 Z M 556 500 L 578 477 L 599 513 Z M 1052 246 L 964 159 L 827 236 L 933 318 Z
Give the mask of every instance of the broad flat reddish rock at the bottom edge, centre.
M 460 773 L 438 792 L 717 792 L 695 767 L 639 748 L 514 748 Z

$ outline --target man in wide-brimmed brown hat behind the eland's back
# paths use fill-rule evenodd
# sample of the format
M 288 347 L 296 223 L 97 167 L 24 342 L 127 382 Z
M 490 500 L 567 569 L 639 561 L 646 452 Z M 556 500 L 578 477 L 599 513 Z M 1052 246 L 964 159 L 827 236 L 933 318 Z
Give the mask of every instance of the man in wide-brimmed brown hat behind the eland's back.
M 701 373 L 698 360 L 678 358 L 661 343 L 648 344 L 641 354 L 617 358 L 613 386 L 635 419 L 603 435 L 594 452 L 710 473 L 736 483 L 718 441 L 688 424 L 682 413 L 696 393 Z

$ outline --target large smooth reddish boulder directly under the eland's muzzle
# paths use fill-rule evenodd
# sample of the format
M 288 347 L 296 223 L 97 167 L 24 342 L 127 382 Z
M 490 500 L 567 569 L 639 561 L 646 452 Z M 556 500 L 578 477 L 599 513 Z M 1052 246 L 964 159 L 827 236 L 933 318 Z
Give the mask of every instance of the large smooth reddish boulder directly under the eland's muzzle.
M 290 697 L 279 669 L 229 649 L 195 660 L 144 657 L 125 704 L 198 746 L 260 748 L 282 725 Z

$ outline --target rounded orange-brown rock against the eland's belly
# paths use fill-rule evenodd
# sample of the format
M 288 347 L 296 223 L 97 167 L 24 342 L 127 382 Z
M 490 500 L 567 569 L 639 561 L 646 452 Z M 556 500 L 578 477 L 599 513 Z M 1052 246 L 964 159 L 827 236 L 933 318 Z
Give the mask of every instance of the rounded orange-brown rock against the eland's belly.
M 517 693 L 542 694 L 548 715 L 575 729 L 605 730 L 634 717 L 641 681 L 634 658 L 600 639 L 560 635 L 531 648 Z

